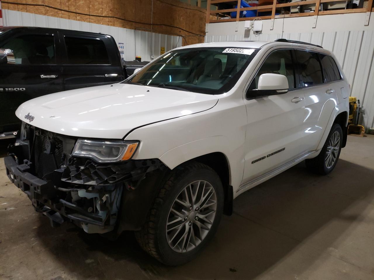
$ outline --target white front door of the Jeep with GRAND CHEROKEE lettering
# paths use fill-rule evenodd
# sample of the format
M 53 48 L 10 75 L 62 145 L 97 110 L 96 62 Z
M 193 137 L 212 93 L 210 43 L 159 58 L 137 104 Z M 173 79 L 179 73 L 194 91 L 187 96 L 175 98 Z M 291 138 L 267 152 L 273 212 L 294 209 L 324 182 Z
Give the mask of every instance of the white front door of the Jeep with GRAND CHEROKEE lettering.
M 245 166 L 242 184 L 272 171 L 300 156 L 302 147 L 304 94 L 298 90 L 293 50 L 269 51 L 251 81 L 244 99 L 247 109 L 245 136 Z M 249 94 L 257 88 L 258 78 L 264 73 L 285 75 L 287 93 L 260 97 Z

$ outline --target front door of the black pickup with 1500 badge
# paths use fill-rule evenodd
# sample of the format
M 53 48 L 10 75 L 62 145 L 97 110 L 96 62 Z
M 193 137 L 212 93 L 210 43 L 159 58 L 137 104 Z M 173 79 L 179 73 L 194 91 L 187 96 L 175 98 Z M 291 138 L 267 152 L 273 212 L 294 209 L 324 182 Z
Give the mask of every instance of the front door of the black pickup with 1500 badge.
M 12 63 L 0 65 L 0 133 L 18 130 L 15 111 L 21 103 L 64 90 L 57 32 L 16 29 L 0 43 L 1 49 L 12 50 L 15 57 Z

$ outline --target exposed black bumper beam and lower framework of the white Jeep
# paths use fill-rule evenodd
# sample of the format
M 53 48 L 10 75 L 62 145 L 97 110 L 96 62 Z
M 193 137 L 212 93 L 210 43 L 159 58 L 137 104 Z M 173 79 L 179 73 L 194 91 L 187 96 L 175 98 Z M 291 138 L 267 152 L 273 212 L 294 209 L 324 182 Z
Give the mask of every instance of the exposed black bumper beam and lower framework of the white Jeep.
M 29 172 L 22 172 L 23 164 L 18 165 L 13 156 L 4 158 L 4 163 L 12 183 L 27 194 L 37 211 L 50 218 L 52 225 L 71 221 L 87 233 L 113 230 L 122 186 L 103 188 L 100 192 L 91 192 L 89 188 L 63 189 Z

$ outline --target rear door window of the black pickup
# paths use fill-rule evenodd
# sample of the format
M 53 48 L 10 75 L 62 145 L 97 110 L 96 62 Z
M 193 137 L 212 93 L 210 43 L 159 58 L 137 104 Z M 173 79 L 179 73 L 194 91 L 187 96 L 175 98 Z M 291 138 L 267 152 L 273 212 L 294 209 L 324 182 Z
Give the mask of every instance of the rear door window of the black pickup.
M 65 35 L 68 64 L 110 64 L 107 48 L 100 38 Z

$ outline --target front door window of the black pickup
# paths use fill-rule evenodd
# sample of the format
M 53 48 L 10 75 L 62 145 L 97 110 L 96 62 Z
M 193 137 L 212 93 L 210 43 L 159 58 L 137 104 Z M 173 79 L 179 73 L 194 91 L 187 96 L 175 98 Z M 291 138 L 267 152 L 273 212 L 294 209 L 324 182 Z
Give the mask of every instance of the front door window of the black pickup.
M 28 34 L 11 38 L 0 49 L 13 51 L 15 64 L 54 64 L 53 35 Z

